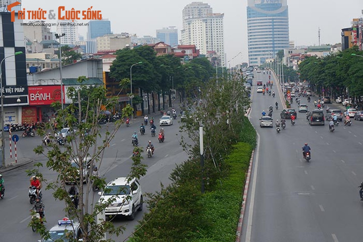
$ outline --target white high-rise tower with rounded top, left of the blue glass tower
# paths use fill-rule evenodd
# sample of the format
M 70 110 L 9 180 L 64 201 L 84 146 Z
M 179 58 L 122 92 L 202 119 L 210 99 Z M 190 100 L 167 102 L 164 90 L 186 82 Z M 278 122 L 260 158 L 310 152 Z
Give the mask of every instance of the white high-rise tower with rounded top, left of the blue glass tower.
M 181 45 L 196 45 L 201 54 L 216 52 L 217 65 L 225 65 L 224 13 L 213 13 L 206 3 L 193 2 L 183 9 L 183 30 Z

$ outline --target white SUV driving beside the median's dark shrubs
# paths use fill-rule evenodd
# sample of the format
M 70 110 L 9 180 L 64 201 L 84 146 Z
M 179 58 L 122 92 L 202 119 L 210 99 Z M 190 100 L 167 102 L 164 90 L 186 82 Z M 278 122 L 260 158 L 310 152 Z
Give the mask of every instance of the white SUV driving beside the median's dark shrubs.
M 98 193 L 101 195 L 99 202 L 116 198 L 113 204 L 105 209 L 106 216 L 122 215 L 127 216 L 129 220 L 134 220 L 136 209 L 142 210 L 142 191 L 136 178 L 128 182 L 126 177 L 119 177 L 107 184 L 105 191 Z

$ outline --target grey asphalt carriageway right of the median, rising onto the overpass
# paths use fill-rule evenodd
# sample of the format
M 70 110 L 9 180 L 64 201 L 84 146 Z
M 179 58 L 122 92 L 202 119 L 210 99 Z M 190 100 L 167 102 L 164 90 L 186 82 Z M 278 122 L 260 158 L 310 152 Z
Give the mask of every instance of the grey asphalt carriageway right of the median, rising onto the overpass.
M 282 106 L 279 97 L 256 93 L 256 81 L 266 82 L 268 75 L 255 75 L 250 120 L 260 144 L 254 156 L 250 181 L 256 183 L 250 182 L 241 241 L 362 241 L 363 202 L 358 185 L 363 180 L 363 122 L 352 120 L 351 127 L 340 124 L 331 133 L 328 122 L 310 126 L 306 114 L 298 113 L 295 126 L 287 120 L 280 134 L 275 127 L 260 128 L 262 110 L 278 100 L 275 121 Z M 301 103 L 311 110 L 314 99 L 308 103 L 301 97 Z M 341 104 L 329 106 L 343 110 Z M 295 102 L 292 107 L 297 110 Z M 310 163 L 302 157 L 305 142 L 311 147 Z

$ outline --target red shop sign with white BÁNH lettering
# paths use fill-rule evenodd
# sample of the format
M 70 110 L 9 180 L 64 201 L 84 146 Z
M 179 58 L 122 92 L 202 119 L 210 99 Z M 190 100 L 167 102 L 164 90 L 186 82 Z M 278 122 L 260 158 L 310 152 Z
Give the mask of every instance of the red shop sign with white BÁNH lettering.
M 28 95 L 29 105 L 50 105 L 61 101 L 61 86 L 28 86 Z

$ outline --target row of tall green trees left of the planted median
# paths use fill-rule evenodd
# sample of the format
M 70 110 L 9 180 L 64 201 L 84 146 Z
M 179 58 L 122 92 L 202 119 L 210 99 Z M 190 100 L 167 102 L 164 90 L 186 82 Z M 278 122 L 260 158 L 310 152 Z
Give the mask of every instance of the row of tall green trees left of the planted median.
M 147 45 L 134 49 L 124 48 L 118 50 L 116 55 L 116 60 L 110 67 L 110 77 L 115 80 L 128 79 L 131 65 L 142 62 L 132 67 L 132 93 L 135 94 L 134 88 L 138 87 L 141 97 L 144 93 L 162 94 L 163 99 L 164 95 L 169 95 L 169 107 L 172 106 L 173 87 L 178 91 L 180 101 L 184 101 L 184 97 L 188 96 L 185 90 L 189 85 L 194 85 L 193 83 L 199 81 L 206 82 L 215 73 L 215 69 L 207 58 L 195 58 L 181 65 L 180 58 L 170 54 L 156 56 L 154 49 Z M 136 99 L 135 104 L 138 103 L 138 100 L 142 104 L 143 110 L 143 102 L 140 98 Z M 155 101 L 152 101 L 152 112 L 155 112 Z M 158 110 L 160 108 L 159 104 Z M 163 108 L 165 109 L 165 102 L 163 102 Z M 148 111 L 150 112 L 150 100 L 148 100 Z

